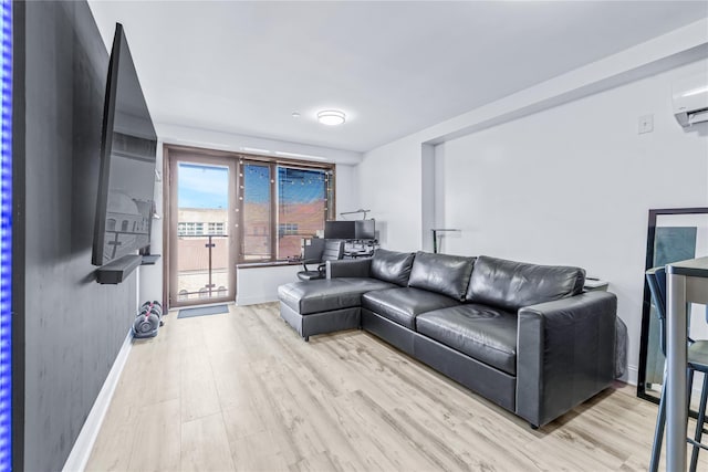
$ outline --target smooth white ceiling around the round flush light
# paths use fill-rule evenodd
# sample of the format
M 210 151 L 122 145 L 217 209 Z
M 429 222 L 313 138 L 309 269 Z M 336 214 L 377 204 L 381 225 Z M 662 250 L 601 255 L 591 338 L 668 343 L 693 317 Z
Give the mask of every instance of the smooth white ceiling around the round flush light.
M 90 4 L 108 49 L 123 23 L 155 123 L 356 151 L 708 17 L 708 1 Z M 325 108 L 347 123 L 320 125 Z

